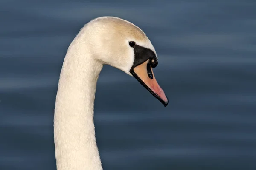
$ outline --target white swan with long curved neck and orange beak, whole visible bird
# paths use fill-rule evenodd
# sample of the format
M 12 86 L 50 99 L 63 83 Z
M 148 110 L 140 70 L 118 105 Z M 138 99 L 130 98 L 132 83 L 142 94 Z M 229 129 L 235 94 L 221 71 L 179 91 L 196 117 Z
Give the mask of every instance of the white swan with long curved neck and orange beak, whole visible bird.
M 158 58 L 146 34 L 118 17 L 91 20 L 70 43 L 61 68 L 54 110 L 57 170 L 102 170 L 93 108 L 104 64 L 133 76 L 164 106 L 168 104 L 154 77 Z

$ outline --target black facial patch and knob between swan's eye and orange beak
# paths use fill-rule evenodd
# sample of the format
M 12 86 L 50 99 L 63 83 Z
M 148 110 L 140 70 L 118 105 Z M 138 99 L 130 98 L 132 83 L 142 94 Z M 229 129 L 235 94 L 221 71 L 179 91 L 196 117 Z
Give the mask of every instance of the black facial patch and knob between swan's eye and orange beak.
M 158 64 L 157 61 L 157 56 L 156 54 L 148 48 L 139 46 L 139 45 L 134 45 L 134 65 L 132 68 L 142 64 L 143 62 L 147 61 L 148 59 L 150 60 L 150 65 L 152 68 L 155 68 Z

